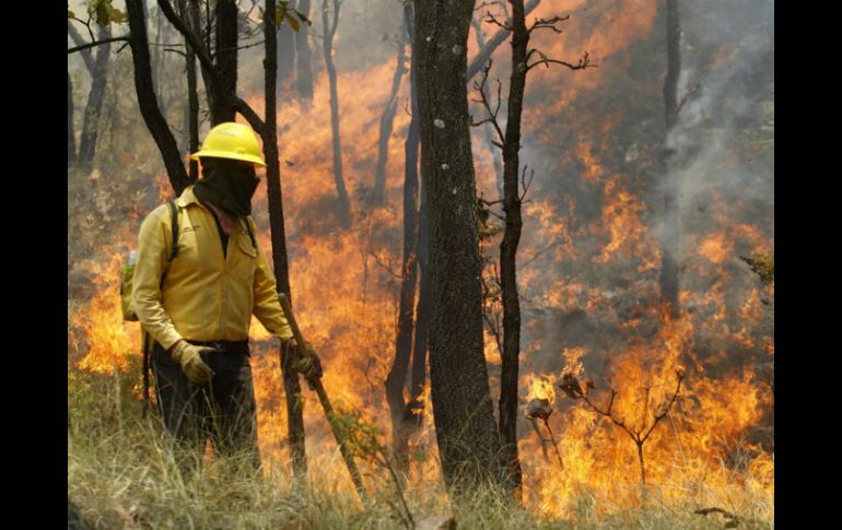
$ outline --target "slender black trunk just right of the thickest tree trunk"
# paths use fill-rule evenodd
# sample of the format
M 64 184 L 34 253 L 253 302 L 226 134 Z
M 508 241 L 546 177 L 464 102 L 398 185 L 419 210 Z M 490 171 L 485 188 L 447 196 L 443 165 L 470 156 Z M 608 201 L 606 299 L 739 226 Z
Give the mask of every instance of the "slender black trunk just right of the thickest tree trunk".
M 523 0 L 512 4 L 512 75 L 508 90 L 508 116 L 503 140 L 503 212 L 506 227 L 500 244 L 500 286 L 503 294 L 503 366 L 500 377 L 500 437 L 503 460 L 508 469 L 507 486 L 519 493 L 521 462 L 517 459 L 517 375 L 521 356 L 521 302 L 517 295 L 517 245 L 521 242 L 521 116 L 526 90 L 526 31 Z M 519 497 L 517 498 L 519 500 Z

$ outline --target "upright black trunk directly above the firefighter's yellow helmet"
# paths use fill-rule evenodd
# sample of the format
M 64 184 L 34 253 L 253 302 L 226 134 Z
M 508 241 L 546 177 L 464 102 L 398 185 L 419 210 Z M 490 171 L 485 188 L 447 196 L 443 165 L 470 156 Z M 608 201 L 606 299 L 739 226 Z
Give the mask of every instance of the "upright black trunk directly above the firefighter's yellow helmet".
M 217 83 L 213 83 L 211 125 L 234 121 L 236 111 L 229 94 L 237 91 L 237 5 L 234 0 L 217 2 L 217 47 L 214 66 Z

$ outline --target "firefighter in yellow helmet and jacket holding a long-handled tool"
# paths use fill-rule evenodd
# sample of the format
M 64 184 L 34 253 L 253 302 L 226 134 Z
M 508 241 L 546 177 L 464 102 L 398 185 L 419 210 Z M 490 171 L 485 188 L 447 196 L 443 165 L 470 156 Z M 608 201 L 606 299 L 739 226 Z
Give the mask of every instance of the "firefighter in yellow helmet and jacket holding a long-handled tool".
M 191 158 L 202 178 L 175 200 L 172 215 L 162 204 L 141 225 L 131 302 L 152 339 L 155 393 L 182 468 L 201 461 L 210 438 L 217 454 L 259 470 L 252 315 L 285 352 L 297 348 L 250 217 L 255 168 L 266 164 L 255 133 L 235 122 L 212 128 Z M 292 365 L 307 378 L 320 375 L 315 355 Z

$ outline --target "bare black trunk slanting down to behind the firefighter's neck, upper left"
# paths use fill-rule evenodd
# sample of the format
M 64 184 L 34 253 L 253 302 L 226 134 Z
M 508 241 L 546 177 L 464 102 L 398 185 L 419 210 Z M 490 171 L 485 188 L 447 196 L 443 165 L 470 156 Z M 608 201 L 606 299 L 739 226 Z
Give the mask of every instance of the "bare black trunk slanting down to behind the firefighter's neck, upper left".
M 187 187 L 189 177 L 182 163 L 178 144 L 173 137 L 164 116 L 157 106 L 155 92 L 152 87 L 152 71 L 149 64 L 149 37 L 143 20 L 143 1 L 126 0 L 126 14 L 129 21 L 129 45 L 135 62 L 135 90 L 138 94 L 138 106 L 149 132 L 155 140 L 161 156 L 164 160 L 169 184 L 176 196 Z

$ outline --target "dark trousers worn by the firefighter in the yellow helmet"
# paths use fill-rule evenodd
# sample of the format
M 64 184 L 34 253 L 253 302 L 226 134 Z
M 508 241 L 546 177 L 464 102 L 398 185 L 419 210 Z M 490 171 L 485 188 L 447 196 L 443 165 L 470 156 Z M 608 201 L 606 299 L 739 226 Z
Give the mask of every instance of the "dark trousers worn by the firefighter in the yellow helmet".
M 260 469 L 257 448 L 257 407 L 248 364 L 248 345 L 203 354 L 213 370 L 206 387 L 187 379 L 182 366 L 155 343 L 152 369 L 161 416 L 177 446 L 179 468 L 198 466 L 208 438 L 215 452 Z

